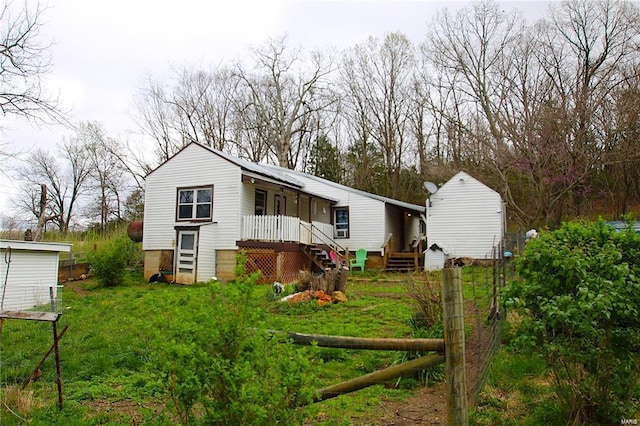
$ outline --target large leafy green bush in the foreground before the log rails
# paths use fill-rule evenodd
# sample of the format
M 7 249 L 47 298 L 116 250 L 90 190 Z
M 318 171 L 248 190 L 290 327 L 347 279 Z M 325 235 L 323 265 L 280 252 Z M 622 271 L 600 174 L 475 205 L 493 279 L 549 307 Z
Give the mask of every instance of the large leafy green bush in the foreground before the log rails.
M 310 350 L 266 330 L 252 296 L 259 275 L 247 276 L 245 261 L 240 254 L 235 281 L 210 283 L 209 300 L 189 302 L 210 309 L 184 306 L 164 331 L 158 359 L 182 424 L 295 424 L 312 399 Z

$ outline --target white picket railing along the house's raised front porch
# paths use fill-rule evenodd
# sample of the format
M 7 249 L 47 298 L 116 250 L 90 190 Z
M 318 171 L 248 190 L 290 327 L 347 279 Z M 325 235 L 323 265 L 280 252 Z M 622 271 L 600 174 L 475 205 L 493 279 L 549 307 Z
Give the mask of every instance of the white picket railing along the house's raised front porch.
M 294 242 L 311 244 L 324 242 L 333 236 L 333 226 L 322 222 L 305 222 L 292 216 L 244 216 L 242 218 L 242 233 L 244 241 Z M 319 233 L 320 229 L 324 235 Z

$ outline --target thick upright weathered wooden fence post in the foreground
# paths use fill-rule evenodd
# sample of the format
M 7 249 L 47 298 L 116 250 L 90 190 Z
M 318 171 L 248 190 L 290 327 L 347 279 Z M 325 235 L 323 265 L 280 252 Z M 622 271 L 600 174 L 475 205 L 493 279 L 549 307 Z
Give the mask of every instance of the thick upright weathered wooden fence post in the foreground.
M 447 419 L 449 425 L 468 425 L 467 378 L 464 354 L 462 270 L 442 271 L 443 322 L 446 357 Z

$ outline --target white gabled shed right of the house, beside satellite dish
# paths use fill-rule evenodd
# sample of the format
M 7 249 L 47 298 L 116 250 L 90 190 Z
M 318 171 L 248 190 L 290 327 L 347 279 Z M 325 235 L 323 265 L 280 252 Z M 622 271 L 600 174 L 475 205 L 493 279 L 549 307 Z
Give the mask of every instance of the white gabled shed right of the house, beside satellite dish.
M 427 247 L 436 244 L 448 258 L 492 259 L 505 229 L 500 194 L 459 172 L 427 199 Z

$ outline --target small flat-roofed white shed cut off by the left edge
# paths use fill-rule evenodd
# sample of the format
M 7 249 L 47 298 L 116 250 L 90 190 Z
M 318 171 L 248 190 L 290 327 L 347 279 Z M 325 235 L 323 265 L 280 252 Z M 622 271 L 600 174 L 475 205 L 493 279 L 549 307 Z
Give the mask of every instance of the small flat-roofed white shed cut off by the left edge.
M 2 310 L 28 310 L 57 298 L 60 253 L 71 244 L 0 240 Z M 47 309 L 49 310 L 49 309 Z

